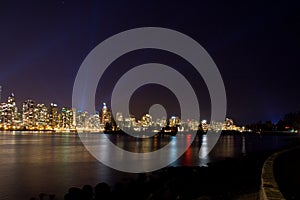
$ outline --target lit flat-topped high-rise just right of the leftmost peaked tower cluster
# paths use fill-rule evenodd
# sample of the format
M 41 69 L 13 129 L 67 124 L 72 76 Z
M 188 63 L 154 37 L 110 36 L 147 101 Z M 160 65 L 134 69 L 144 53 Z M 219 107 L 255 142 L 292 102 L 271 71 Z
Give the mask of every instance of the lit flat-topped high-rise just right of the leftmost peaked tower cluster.
M 33 100 L 26 100 L 22 107 L 23 126 L 25 128 L 34 128 L 35 126 L 35 103 Z

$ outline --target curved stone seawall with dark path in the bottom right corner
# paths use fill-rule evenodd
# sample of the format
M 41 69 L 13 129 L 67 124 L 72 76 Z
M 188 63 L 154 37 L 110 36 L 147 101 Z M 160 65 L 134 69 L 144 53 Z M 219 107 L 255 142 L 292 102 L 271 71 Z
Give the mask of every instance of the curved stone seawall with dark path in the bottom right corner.
M 271 155 L 264 163 L 259 199 L 300 199 L 300 147 Z

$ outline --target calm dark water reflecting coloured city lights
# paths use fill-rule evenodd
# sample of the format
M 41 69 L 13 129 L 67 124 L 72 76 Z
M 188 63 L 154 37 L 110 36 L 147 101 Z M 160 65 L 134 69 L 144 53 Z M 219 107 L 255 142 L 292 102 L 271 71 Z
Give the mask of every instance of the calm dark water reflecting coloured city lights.
M 189 140 L 188 135 L 183 137 Z M 131 151 L 144 151 L 143 148 L 155 150 L 171 139 L 156 137 L 141 141 L 120 135 L 109 135 L 109 138 Z M 298 139 L 299 136 L 221 136 L 209 156 L 199 159 L 203 141 L 199 136 L 171 166 L 206 165 L 249 153 L 276 150 Z M 107 140 L 104 135 L 103 140 Z M 63 199 L 71 186 L 95 186 L 103 181 L 113 185 L 135 177 L 136 174 L 119 172 L 99 163 L 84 148 L 77 135 L 0 132 L 0 199 L 29 199 L 41 192 L 54 193 L 58 199 Z

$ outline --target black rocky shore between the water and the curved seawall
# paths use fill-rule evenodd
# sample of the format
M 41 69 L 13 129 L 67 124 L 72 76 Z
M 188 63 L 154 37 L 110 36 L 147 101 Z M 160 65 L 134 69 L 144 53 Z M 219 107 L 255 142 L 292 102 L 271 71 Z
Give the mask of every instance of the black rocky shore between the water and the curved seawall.
M 228 159 L 208 167 L 169 167 L 113 186 L 102 182 L 95 187 L 72 187 L 64 199 L 236 199 L 259 191 L 261 168 L 271 153 Z

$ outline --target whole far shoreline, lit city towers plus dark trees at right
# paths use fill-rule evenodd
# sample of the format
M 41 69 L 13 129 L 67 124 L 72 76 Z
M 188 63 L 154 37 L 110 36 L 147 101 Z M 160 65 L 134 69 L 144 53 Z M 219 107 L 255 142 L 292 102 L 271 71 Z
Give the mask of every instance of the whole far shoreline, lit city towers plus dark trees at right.
M 102 103 L 99 110 L 88 113 L 74 107 L 59 106 L 56 103 L 36 103 L 34 100 L 24 100 L 22 106 L 18 106 L 14 93 L 6 102 L 0 102 L 0 129 L 2 130 L 37 130 L 55 132 L 107 132 L 129 131 L 135 132 L 160 132 L 166 127 L 174 127 L 179 132 L 204 131 L 239 131 L 257 132 L 279 131 L 285 133 L 298 133 L 299 112 L 288 113 L 277 123 L 259 121 L 253 124 L 235 124 L 236 119 L 226 117 L 223 121 L 214 119 L 181 119 L 176 115 L 151 116 L 149 112 L 141 117 L 134 113 L 128 116 L 121 112 L 114 113 Z

